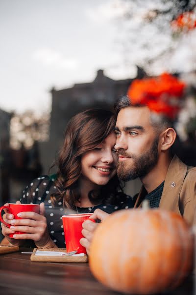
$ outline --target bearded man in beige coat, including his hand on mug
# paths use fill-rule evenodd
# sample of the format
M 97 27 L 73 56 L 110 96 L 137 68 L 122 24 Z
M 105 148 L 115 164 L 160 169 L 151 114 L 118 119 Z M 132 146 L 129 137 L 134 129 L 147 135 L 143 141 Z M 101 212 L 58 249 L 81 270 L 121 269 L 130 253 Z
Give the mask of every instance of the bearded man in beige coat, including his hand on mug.
M 196 167 L 187 167 L 172 155 L 176 132 L 167 116 L 156 115 L 146 105 L 133 105 L 128 96 L 114 108 L 117 118 L 115 132 L 119 156 L 118 177 L 124 181 L 139 177 L 142 188 L 134 198 L 135 208 L 144 199 L 149 207 L 159 207 L 183 216 L 187 223 L 196 223 Z M 92 219 L 103 220 L 107 213 L 97 209 Z M 81 244 L 91 244 L 98 224 L 83 223 Z

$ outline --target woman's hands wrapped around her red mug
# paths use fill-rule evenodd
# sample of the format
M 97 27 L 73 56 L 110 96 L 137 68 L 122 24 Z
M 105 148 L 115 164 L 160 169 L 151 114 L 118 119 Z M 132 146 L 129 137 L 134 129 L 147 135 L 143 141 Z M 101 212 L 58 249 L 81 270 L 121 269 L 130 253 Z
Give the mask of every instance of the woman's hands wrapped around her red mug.
M 10 233 L 13 233 L 13 231 L 25 233 L 25 234 L 21 234 L 21 235 L 15 234 L 13 236 L 13 238 L 6 236 L 6 238 L 12 244 L 16 245 L 17 244 L 15 242 L 16 240 L 20 244 L 21 240 L 31 239 L 35 242 L 35 245 L 38 248 L 40 248 L 40 247 L 45 247 L 45 248 L 57 247 L 49 236 L 48 227 L 47 227 L 47 219 L 45 217 L 44 203 L 40 204 L 40 214 L 37 214 L 35 212 L 21 212 L 18 214 L 18 216 L 22 219 L 14 219 L 14 216 L 13 217 L 9 216 L 9 215 L 12 215 L 10 213 L 6 213 L 4 215 L 3 215 L 3 219 L 5 219 L 6 222 L 11 224 L 10 229 L 7 228 L 7 230 L 6 230 L 7 235 Z M 10 231 L 12 231 L 12 232 L 10 232 Z

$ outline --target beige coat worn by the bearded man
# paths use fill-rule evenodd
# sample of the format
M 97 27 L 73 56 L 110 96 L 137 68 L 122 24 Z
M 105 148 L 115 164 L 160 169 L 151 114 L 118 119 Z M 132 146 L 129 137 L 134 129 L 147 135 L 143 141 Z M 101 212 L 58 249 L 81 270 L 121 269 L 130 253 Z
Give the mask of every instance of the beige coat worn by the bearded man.
M 142 186 L 135 208 L 141 205 L 146 195 Z M 165 178 L 159 208 L 176 212 L 189 224 L 196 224 L 196 167 L 186 166 L 176 155 Z

